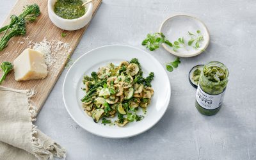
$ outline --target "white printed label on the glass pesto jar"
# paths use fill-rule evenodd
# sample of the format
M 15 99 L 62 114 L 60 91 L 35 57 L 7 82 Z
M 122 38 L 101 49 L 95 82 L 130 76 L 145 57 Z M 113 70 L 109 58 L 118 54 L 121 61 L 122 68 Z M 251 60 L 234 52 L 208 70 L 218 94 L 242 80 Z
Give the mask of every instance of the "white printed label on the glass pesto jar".
M 209 95 L 205 93 L 200 85 L 196 91 L 196 101 L 198 104 L 205 109 L 216 109 L 221 106 L 224 99 L 225 91 L 218 95 Z

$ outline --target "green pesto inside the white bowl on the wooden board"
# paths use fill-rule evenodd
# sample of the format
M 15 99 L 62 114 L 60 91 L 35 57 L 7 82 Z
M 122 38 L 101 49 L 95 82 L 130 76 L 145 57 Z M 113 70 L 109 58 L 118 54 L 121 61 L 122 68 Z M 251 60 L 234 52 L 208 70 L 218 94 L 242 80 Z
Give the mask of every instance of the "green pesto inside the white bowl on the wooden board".
M 57 0 L 54 4 L 54 12 L 63 19 L 77 19 L 82 17 L 86 8 L 81 7 L 81 0 Z

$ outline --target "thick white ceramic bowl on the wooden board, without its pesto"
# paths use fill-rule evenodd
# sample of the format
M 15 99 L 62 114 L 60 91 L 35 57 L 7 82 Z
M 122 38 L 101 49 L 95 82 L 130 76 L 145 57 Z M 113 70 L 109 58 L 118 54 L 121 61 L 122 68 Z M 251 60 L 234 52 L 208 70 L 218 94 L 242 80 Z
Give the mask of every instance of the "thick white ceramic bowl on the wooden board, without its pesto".
M 83 28 L 92 19 L 92 3 L 86 4 L 86 13 L 82 17 L 79 17 L 78 19 L 63 19 L 54 13 L 54 4 L 56 1 L 57 0 L 48 0 L 48 15 L 52 23 L 58 28 L 74 31 Z M 82 1 L 85 2 L 86 0 Z

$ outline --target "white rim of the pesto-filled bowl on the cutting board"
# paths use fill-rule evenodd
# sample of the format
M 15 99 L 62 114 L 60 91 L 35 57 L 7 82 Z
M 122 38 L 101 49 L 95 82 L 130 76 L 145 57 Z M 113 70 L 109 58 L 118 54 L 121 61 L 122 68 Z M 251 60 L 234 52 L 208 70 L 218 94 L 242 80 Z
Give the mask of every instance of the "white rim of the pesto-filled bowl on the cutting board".
M 88 10 L 84 13 L 84 15 L 82 17 L 79 17 L 77 19 L 63 19 L 62 17 L 56 15 L 56 13 L 54 12 L 53 6 L 51 4 L 52 1 L 55 1 L 55 3 L 56 3 L 57 0 L 48 0 L 48 12 L 50 12 L 51 15 L 54 16 L 56 19 L 64 21 L 64 22 L 75 22 L 77 20 L 86 19 L 86 17 L 90 17 L 90 12 L 92 12 L 92 10 L 93 10 L 93 4 L 91 2 L 91 3 L 86 4 L 86 8 L 88 8 Z

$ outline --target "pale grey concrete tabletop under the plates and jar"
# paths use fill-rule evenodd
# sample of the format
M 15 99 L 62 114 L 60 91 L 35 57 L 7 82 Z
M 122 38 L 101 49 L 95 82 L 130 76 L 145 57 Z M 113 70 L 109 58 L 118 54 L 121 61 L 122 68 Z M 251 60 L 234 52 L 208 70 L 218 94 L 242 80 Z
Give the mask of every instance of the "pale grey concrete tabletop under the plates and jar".
M 46 0 L 45 0 L 46 1 Z M 3 22 L 15 0 L 3 1 Z M 104 0 L 72 59 L 108 44 L 144 49 L 141 41 L 156 32 L 172 13 L 191 13 L 203 20 L 211 34 L 207 52 L 181 58 L 168 72 L 172 97 L 163 118 L 147 132 L 132 138 L 100 138 L 79 127 L 62 99 L 64 70 L 40 111 L 36 125 L 67 148 L 67 159 L 256 159 L 256 1 L 135 1 Z M 161 64 L 175 56 L 150 52 Z M 217 60 L 230 71 L 224 105 L 215 116 L 194 106 L 196 90 L 188 82 L 191 67 Z

